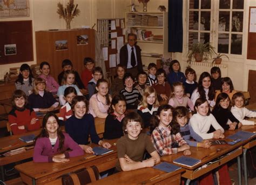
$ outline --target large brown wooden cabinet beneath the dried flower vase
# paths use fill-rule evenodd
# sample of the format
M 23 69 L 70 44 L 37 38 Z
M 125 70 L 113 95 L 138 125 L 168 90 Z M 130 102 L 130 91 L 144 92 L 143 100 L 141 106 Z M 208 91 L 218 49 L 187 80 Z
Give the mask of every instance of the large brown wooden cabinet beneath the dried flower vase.
M 88 44 L 77 44 L 77 36 L 88 37 Z M 66 40 L 68 49 L 56 50 L 56 41 Z M 73 29 L 57 31 L 36 32 L 37 64 L 48 61 L 51 65 L 51 75 L 57 80 L 58 74 L 62 72 L 62 61 L 70 59 L 73 68 L 82 73 L 84 69 L 84 58 L 95 59 L 95 30 Z

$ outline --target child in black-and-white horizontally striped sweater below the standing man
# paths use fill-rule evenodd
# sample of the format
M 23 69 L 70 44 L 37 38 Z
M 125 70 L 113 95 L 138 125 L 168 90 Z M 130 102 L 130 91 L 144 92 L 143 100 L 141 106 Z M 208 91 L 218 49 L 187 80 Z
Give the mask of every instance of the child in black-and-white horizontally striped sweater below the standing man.
M 131 73 L 124 74 L 124 85 L 125 88 L 120 91 L 120 94 L 124 95 L 126 100 L 126 109 L 137 109 L 139 100 L 142 99 L 137 88 L 133 88 L 134 78 Z

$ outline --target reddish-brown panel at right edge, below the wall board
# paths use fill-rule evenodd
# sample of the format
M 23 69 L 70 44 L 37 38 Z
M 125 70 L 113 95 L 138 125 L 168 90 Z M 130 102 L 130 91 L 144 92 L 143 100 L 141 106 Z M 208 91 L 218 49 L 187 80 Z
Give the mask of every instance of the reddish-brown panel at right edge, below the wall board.
M 256 79 L 256 71 L 255 70 L 249 70 L 248 91 L 250 92 L 250 97 L 251 97 L 250 104 L 253 104 L 254 102 L 256 102 L 256 81 L 255 81 L 255 79 Z

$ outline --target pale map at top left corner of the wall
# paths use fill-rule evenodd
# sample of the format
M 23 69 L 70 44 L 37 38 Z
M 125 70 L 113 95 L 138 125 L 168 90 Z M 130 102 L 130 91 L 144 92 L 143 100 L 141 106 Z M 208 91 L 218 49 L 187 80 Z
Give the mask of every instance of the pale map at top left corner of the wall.
M 29 0 L 0 0 L 0 18 L 29 17 Z

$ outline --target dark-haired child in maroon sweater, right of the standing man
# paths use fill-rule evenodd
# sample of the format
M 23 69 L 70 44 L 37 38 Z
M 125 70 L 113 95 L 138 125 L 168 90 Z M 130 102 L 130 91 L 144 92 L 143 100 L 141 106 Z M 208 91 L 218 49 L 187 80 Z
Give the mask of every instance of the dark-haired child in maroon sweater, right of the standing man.
M 154 89 L 157 91 L 157 98 L 160 104 L 167 104 L 171 95 L 171 86 L 166 81 L 166 73 L 163 68 L 159 68 L 156 73 L 157 83 L 153 84 Z

